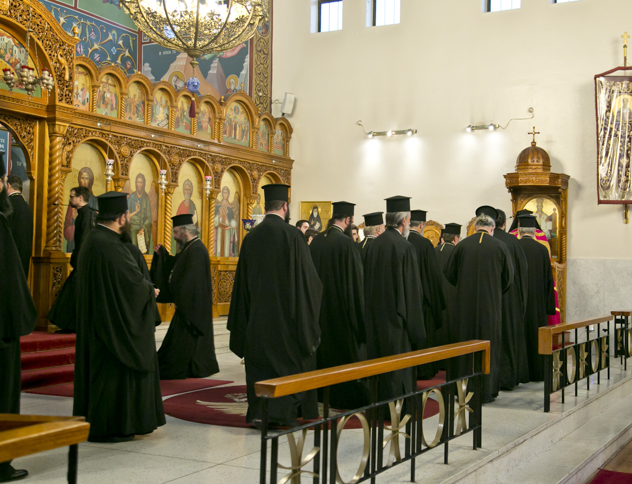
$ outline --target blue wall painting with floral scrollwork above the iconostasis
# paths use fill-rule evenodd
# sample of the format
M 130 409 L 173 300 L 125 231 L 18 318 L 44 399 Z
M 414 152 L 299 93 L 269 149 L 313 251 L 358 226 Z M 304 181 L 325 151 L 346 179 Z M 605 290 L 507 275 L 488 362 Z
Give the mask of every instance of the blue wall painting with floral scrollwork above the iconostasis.
M 74 36 L 75 25 L 79 28 L 80 40 L 76 45 L 77 56 L 88 57 L 101 67 L 114 64 L 128 75 L 138 72 L 138 28 L 135 25 L 119 27 L 82 11 L 60 7 L 46 0 L 42 0 L 42 3 L 70 35 Z M 103 15 L 112 21 L 121 21 L 122 25 L 128 25 L 131 22 L 129 18 L 125 20 L 126 15 L 121 15 L 118 8 L 111 4 L 107 4 L 105 6 L 107 9 L 100 13 L 104 7 L 101 3 L 94 0 L 82 0 L 82 5 L 95 15 Z

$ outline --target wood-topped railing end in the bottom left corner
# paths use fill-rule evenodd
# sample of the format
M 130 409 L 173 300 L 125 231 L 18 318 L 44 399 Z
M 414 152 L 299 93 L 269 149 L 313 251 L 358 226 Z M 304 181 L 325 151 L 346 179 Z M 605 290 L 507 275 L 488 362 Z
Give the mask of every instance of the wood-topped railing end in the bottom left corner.
M 70 446 L 68 483 L 76 484 L 77 444 L 88 439 L 89 430 L 82 416 L 0 413 L 0 462 Z

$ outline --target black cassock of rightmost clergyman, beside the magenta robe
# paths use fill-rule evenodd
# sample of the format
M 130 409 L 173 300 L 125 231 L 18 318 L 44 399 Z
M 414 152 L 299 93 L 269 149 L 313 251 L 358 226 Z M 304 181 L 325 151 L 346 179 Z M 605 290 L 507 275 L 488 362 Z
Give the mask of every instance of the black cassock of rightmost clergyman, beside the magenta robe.
M 544 380 L 544 357 L 538 353 L 538 328 L 547 326 L 549 314 L 556 313 L 553 269 L 549 251 L 544 245 L 528 236 L 523 236 L 518 242 L 529 264 L 525 312 L 529 377 L 532 382 L 541 382 Z

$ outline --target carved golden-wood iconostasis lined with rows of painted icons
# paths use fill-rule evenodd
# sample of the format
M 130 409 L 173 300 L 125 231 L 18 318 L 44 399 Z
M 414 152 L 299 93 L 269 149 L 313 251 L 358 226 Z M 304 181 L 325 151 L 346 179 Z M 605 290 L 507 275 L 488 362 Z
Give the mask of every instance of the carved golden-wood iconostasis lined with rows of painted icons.
M 31 6 L 32 14 L 18 0 L 7 9 L 0 5 L 0 62 L 9 68 L 15 62 L 4 60 L 7 45 L 18 56 L 25 52 L 24 24 L 32 15 L 29 63 L 49 69 L 55 85 L 29 97 L 19 83 L 13 93 L 0 83 L 0 124 L 23 151 L 21 164 L 14 156 L 9 170 L 23 165 L 30 186 L 35 235 L 29 281 L 38 329 L 54 329 L 46 314 L 70 271 L 76 210 L 68 200 L 76 186 L 88 188 L 97 210 L 100 194 L 128 194 L 132 242 L 148 263 L 156 244 L 175 252 L 171 216 L 191 213 L 209 250 L 214 316 L 228 314 L 245 236 L 242 219 L 263 214 L 262 186 L 291 182 L 289 122 L 261 113 L 238 88 L 226 99 L 194 99 L 173 83 L 128 76 L 116 66 L 99 68 L 75 57 L 78 38 L 64 32 L 42 4 Z M 196 117 L 189 116 L 192 102 Z M 112 160 L 111 179 L 106 160 Z M 171 311 L 161 308 L 164 316 Z

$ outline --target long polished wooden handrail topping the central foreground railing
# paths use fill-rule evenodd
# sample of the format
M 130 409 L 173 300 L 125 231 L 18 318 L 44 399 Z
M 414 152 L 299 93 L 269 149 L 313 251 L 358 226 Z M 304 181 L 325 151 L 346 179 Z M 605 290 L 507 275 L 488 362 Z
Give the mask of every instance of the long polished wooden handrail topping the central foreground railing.
M 483 351 L 482 371 L 483 374 L 489 374 L 489 341 L 473 339 L 463 341 L 463 343 L 435 346 L 427 350 L 410 351 L 410 353 L 401 353 L 401 355 L 391 357 L 375 358 L 365 362 L 264 380 L 255 383 L 255 393 L 260 397 L 277 398 L 394 370 L 416 367 L 424 363 L 470 355 L 477 351 Z

